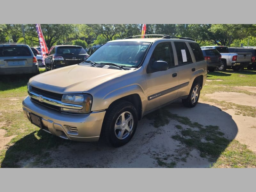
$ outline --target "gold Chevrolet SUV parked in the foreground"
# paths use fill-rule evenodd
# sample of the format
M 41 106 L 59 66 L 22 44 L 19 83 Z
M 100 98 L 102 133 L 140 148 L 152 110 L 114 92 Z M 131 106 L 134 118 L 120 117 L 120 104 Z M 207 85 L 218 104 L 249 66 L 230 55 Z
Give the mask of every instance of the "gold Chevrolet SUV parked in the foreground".
M 186 37 L 146 37 L 109 41 L 82 63 L 30 78 L 26 118 L 64 139 L 119 147 L 146 114 L 175 100 L 195 107 L 207 75 L 200 46 Z

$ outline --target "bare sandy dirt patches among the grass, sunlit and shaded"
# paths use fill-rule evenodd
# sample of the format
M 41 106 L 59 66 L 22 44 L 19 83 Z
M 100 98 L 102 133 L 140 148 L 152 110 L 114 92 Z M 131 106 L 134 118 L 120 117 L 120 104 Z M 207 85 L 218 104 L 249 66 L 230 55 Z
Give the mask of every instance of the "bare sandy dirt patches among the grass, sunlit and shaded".
M 236 87 L 256 93 L 256 87 Z M 225 101 L 256 106 L 255 97 L 237 92 L 215 92 L 206 95 L 209 98 L 222 98 Z M 256 118 L 250 116 L 236 115 L 232 109 L 222 110 L 211 102 L 199 102 L 195 108 L 183 107 L 181 101 L 170 105 L 172 114 L 188 117 L 190 121 L 204 126 L 219 126 L 220 131 L 225 133 L 229 140 L 236 139 L 246 144 L 249 149 L 256 152 Z M 206 168 L 212 163 L 207 158 L 202 158 L 196 149 L 189 150 L 178 140 L 171 138 L 177 132 L 177 121 L 171 120 L 169 124 L 155 128 L 152 121 L 143 118 L 139 121 L 137 131 L 132 140 L 120 147 L 111 148 L 102 142 L 83 143 L 77 142 L 68 146 L 59 146 L 50 152 L 51 163 L 33 164 L 34 158 L 20 162 L 21 167 L 93 167 L 93 168 L 161 168 L 157 159 L 165 162 L 175 161 L 176 168 Z M 4 130 L 0 129 L 0 149 L 9 142 L 10 138 L 3 137 Z M 184 154 L 186 160 L 181 161 Z M 189 155 L 188 155 L 189 154 Z

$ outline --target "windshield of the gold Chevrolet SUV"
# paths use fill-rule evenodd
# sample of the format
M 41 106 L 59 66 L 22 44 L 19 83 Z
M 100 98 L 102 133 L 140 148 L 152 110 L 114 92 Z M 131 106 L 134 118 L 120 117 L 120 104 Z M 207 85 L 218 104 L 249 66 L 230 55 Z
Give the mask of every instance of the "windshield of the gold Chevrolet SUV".
M 137 67 L 143 60 L 150 43 L 110 42 L 102 45 L 87 60 L 97 64 L 114 63 L 126 67 Z

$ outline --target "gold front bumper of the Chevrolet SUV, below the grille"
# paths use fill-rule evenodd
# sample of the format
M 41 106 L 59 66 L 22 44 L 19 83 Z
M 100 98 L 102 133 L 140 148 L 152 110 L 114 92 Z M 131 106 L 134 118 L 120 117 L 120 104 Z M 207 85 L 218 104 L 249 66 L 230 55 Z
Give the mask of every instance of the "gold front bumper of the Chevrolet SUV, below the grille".
M 44 107 L 26 97 L 22 101 L 23 112 L 31 121 L 32 113 L 41 119 L 41 129 L 58 137 L 74 141 L 98 141 L 106 111 L 95 111 L 85 115 L 73 115 Z

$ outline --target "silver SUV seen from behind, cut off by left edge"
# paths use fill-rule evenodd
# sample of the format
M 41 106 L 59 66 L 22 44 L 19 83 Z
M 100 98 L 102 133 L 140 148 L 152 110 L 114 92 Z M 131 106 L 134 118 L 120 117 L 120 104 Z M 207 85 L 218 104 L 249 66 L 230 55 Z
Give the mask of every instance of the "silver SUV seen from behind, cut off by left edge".
M 26 44 L 0 43 L 0 75 L 12 74 L 39 74 L 38 62 Z

